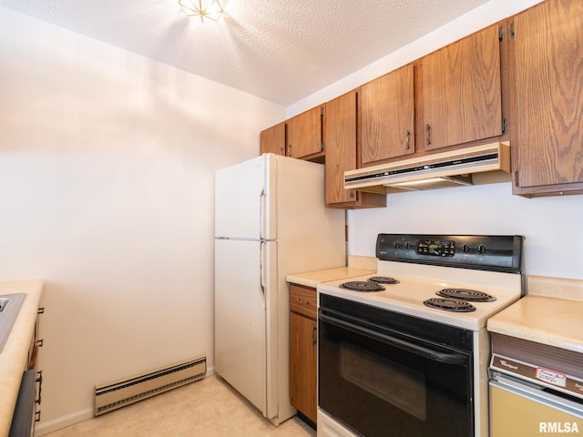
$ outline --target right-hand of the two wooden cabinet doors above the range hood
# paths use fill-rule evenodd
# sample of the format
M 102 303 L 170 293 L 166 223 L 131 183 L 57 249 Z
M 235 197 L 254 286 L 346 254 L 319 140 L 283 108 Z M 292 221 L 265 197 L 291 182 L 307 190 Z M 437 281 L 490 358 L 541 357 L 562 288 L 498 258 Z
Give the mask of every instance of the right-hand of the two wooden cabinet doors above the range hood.
M 422 77 L 425 150 L 502 135 L 498 25 L 424 56 Z

